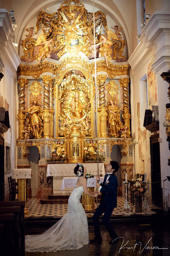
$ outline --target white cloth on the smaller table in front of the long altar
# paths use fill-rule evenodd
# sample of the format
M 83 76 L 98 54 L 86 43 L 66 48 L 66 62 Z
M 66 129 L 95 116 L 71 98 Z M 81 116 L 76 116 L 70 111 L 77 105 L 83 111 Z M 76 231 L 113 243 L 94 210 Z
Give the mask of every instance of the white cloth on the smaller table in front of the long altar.
M 100 177 L 100 181 L 103 182 L 104 177 Z M 74 188 L 77 183 L 77 177 L 64 177 L 61 184 L 61 190 L 65 188 Z M 88 187 L 96 186 L 96 178 L 88 178 L 87 180 Z

